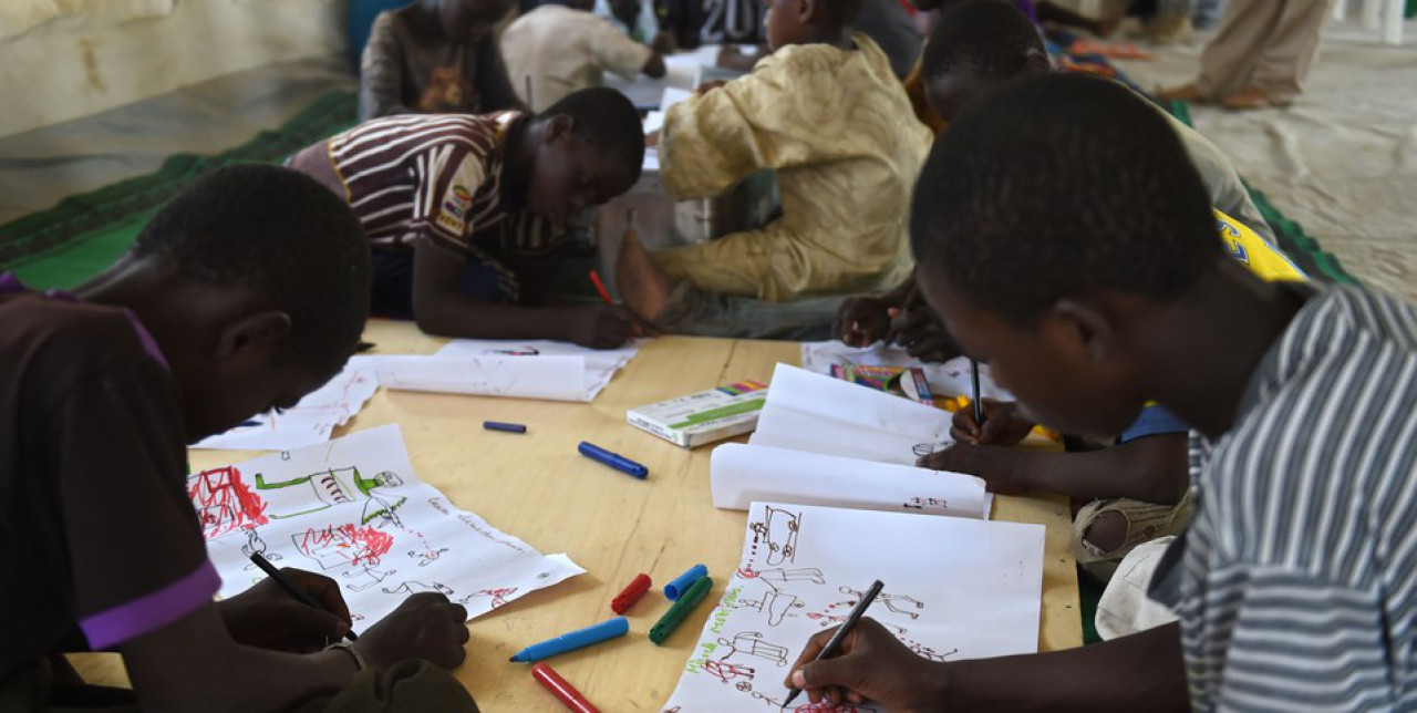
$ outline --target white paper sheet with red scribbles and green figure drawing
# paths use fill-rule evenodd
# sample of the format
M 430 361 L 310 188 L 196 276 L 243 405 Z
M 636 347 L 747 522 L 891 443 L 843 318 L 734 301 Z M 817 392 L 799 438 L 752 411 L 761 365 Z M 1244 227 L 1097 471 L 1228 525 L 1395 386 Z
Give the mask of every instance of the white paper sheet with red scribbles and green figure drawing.
M 475 618 L 585 571 L 418 481 L 397 425 L 204 471 L 188 476 L 187 493 L 222 597 L 265 577 L 252 551 L 340 583 L 366 624 L 419 591 L 441 591 Z

